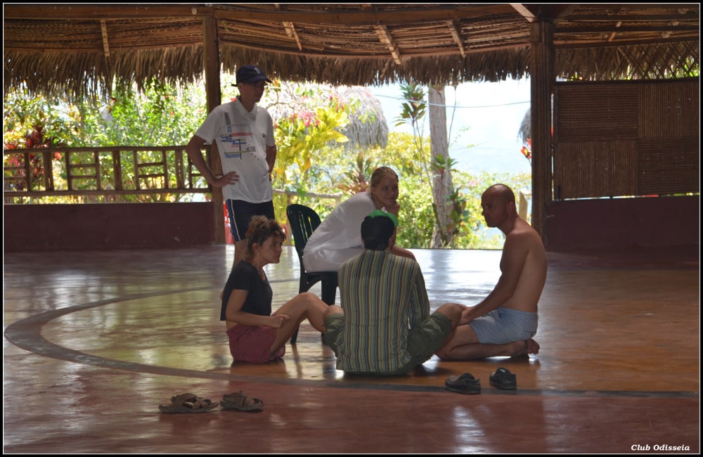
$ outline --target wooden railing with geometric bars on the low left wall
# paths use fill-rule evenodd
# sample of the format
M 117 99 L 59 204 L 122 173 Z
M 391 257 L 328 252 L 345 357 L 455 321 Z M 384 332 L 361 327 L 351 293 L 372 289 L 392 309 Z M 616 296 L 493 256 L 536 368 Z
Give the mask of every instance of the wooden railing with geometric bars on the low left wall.
M 6 202 L 15 197 L 211 191 L 186 146 L 6 149 L 3 169 Z

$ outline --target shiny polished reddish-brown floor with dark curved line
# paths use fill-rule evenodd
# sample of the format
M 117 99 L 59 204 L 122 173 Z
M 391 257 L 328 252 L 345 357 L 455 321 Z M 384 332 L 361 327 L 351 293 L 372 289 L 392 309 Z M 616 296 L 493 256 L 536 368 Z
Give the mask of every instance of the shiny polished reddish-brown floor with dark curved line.
M 549 253 L 539 354 L 434 357 L 395 378 L 337 371 L 307 322 L 280 361 L 232 364 L 232 249 L 4 253 L 4 453 L 700 451 L 698 249 Z M 433 309 L 498 278 L 499 251 L 413 252 Z M 292 247 L 266 268 L 276 307 L 297 292 Z M 489 385 L 499 366 L 517 391 Z M 444 390 L 465 372 L 481 394 Z M 158 409 L 239 390 L 264 411 Z

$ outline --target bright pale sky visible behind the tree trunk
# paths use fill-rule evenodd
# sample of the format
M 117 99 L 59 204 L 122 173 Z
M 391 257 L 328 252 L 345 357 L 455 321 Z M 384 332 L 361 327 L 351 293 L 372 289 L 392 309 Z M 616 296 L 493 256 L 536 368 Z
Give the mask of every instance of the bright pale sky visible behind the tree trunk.
M 409 126 L 395 127 L 403 103 L 400 85 L 369 89 L 382 105 L 389 130 L 411 133 Z M 449 156 L 458 162 L 456 168 L 470 172 L 530 172 L 529 162 L 520 153 L 523 143 L 517 136 L 530 107 L 529 79 L 467 82 L 456 90 L 447 87 L 445 98 Z M 425 130 L 429 132 L 427 122 Z M 469 148 L 470 145 L 475 146 Z

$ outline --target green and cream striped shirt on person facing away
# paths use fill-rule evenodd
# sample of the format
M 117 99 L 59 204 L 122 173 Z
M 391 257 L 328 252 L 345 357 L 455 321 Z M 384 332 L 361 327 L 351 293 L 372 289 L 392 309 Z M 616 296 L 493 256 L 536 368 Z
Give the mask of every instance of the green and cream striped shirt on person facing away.
M 337 339 L 337 369 L 390 373 L 408 363 L 408 330 L 430 316 L 418 262 L 365 250 L 345 262 L 338 276 L 344 328 Z

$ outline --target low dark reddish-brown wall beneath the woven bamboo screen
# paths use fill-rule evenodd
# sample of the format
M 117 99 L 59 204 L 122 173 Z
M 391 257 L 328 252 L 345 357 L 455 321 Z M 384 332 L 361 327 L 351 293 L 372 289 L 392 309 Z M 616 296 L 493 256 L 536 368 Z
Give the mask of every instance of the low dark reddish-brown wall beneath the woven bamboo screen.
M 700 246 L 700 196 L 562 200 L 547 206 L 548 251 Z

